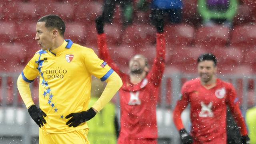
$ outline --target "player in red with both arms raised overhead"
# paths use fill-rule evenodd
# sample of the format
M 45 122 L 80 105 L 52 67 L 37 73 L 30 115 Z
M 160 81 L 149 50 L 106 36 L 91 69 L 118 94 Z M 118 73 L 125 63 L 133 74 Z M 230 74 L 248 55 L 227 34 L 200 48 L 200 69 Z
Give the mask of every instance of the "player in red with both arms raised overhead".
M 110 58 L 104 33 L 104 17 L 96 19 L 98 48 L 105 60 L 123 81 L 119 91 L 121 106 L 121 130 L 118 144 L 157 144 L 156 103 L 158 89 L 164 73 L 165 39 L 164 22 L 156 22 L 156 58 L 149 70 L 146 58 L 135 55 L 129 62 L 129 73 L 125 74 Z

